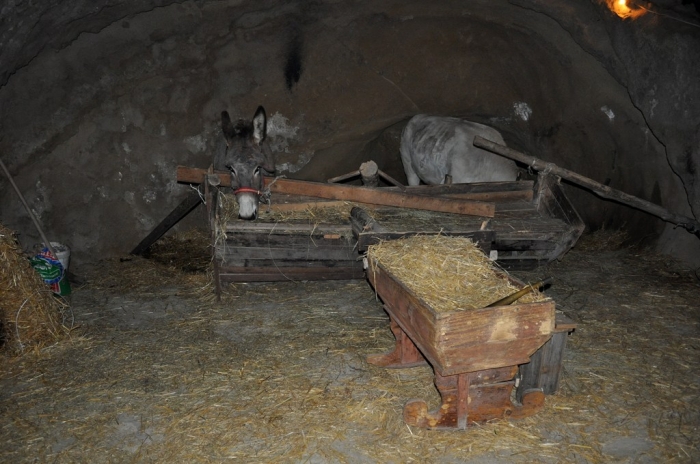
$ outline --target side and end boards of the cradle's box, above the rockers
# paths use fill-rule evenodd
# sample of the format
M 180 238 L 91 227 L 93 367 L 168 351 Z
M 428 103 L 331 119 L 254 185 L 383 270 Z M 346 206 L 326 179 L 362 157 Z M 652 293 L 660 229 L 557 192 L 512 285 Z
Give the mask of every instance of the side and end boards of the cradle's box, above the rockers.
M 381 264 L 370 263 L 367 278 L 390 316 L 443 376 L 525 364 L 554 330 L 551 300 L 439 312 Z

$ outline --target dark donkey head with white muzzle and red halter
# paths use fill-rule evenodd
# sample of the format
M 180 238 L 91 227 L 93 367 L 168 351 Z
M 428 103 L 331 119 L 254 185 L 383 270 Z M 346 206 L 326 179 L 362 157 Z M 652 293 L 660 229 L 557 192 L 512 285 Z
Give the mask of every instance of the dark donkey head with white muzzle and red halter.
M 231 171 L 231 188 L 242 219 L 255 219 L 263 189 L 263 170 L 275 172 L 272 152 L 264 143 L 267 130 L 265 109 L 260 106 L 252 121 L 231 122 L 221 113 L 221 129 L 226 138 L 225 167 Z

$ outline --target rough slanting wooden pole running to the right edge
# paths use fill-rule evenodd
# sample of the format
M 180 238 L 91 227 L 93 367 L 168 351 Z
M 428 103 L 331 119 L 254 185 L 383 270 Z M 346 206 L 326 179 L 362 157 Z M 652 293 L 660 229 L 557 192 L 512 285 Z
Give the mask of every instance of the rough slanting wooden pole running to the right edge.
M 551 172 L 552 174 L 555 174 L 563 179 L 591 190 L 601 198 L 617 201 L 624 205 L 631 206 L 632 208 L 640 209 L 646 213 L 659 217 L 664 221 L 681 226 L 691 234 L 695 234 L 698 238 L 700 238 L 700 222 L 696 221 L 695 219 L 674 214 L 659 205 L 608 187 L 607 185 L 596 182 L 593 179 L 582 176 L 581 174 L 569 171 L 568 169 L 560 168 L 554 163 L 542 161 L 534 156 L 526 155 L 519 151 L 513 150 L 512 148 L 508 148 L 505 145 L 500 145 L 492 142 L 491 140 L 479 137 L 478 135 L 474 137 L 474 146 L 483 148 L 484 150 L 488 150 L 501 156 L 505 156 L 506 158 L 510 158 L 515 161 L 520 161 L 521 163 L 524 163 L 538 171 L 544 171 L 547 173 Z

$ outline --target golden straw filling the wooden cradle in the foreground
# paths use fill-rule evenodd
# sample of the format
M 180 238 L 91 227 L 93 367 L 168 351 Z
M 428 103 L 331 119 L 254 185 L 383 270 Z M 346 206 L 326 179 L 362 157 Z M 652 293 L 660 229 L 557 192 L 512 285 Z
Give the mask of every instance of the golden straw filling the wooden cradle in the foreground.
M 483 308 L 520 290 L 511 284 L 474 242 L 444 235 L 381 242 L 367 250 L 380 264 L 439 312 Z M 518 303 L 544 301 L 538 292 Z

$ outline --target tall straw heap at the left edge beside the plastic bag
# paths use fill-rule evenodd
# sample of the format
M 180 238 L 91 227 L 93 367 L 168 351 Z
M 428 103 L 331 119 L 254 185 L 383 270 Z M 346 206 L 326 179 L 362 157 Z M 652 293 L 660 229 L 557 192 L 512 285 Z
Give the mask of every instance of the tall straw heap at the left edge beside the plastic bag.
M 53 296 L 22 253 L 14 233 L 0 224 L 0 344 L 21 354 L 54 343 L 66 333 L 64 304 Z

